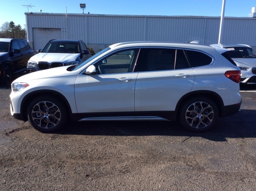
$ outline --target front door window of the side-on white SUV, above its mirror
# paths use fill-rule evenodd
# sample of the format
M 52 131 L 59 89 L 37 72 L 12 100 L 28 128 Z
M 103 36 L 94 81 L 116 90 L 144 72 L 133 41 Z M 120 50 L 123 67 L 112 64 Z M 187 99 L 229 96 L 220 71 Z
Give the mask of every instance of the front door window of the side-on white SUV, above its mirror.
M 115 52 L 95 63 L 99 74 L 132 72 L 140 49 Z

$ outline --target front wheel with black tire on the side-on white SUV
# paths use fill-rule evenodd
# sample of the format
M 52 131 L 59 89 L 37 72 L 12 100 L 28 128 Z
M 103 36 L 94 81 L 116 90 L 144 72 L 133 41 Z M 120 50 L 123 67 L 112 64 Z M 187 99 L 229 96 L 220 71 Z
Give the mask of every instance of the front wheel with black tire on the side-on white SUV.
M 66 107 L 53 97 L 41 96 L 28 105 L 28 120 L 38 131 L 52 133 L 60 130 L 67 120 Z

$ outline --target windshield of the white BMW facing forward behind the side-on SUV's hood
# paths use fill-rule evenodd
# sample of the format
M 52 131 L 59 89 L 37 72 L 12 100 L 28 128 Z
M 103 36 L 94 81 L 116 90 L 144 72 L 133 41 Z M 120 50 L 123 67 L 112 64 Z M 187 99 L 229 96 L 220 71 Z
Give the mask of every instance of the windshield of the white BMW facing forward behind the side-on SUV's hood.
M 51 41 L 42 50 L 43 53 L 79 53 L 78 42 Z

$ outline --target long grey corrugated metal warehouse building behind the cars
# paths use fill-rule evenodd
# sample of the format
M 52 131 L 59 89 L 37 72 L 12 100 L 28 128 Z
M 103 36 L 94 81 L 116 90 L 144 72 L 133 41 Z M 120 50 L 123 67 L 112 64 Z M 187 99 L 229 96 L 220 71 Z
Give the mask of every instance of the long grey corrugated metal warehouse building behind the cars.
M 218 43 L 220 17 L 25 13 L 27 39 L 42 49 L 50 39 L 81 39 L 97 52 L 125 41 L 198 40 Z M 225 17 L 222 44 L 256 46 L 256 18 Z

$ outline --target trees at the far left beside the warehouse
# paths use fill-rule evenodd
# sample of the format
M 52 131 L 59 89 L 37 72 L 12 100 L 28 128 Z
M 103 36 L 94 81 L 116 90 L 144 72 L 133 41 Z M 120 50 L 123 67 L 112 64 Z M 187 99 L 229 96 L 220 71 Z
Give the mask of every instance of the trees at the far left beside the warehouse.
M 26 39 L 26 31 L 14 22 L 5 22 L 0 28 L 0 38 L 21 38 Z

